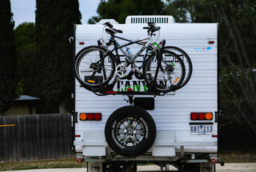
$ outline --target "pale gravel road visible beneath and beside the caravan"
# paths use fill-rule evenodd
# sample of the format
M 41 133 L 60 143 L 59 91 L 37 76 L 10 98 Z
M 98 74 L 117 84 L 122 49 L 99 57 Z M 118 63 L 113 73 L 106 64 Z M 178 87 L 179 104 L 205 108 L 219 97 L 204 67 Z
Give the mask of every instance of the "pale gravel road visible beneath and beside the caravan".
M 171 171 L 177 171 L 176 168 L 170 166 Z M 86 172 L 86 168 L 70 168 L 70 169 L 29 169 L 22 170 L 19 172 Z M 150 165 L 150 166 L 138 166 L 138 171 L 160 171 L 159 166 Z M 216 172 L 255 172 L 256 171 L 256 162 L 254 163 L 226 163 L 225 166 L 220 166 L 216 164 Z M 10 171 L 8 171 L 10 172 Z M 11 171 L 15 172 L 15 171 Z

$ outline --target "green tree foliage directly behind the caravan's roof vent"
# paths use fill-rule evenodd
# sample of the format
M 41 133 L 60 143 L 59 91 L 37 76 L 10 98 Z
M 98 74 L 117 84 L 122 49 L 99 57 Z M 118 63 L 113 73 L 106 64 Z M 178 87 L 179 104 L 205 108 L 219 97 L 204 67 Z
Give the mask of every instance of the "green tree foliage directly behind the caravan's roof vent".
M 161 0 L 101 0 L 97 8 L 99 16 L 88 20 L 95 24 L 100 19 L 115 19 L 124 23 L 127 15 L 163 15 L 164 3 Z

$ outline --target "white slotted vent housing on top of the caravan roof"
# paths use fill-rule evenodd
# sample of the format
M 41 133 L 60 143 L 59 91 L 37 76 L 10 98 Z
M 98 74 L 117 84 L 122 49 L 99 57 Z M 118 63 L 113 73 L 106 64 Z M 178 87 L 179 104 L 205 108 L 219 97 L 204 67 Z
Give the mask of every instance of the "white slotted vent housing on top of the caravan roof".
M 147 24 L 148 22 L 173 24 L 172 15 L 129 15 L 125 19 L 125 24 Z

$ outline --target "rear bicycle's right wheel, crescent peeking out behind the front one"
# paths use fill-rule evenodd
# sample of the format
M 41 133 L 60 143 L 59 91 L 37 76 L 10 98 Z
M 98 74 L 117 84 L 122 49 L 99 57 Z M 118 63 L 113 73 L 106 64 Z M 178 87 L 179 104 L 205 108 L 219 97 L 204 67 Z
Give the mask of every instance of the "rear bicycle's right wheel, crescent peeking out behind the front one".
M 164 50 L 174 52 L 175 54 L 180 56 L 180 58 L 183 60 L 185 69 L 186 69 L 186 74 L 185 74 L 184 81 L 182 82 L 182 84 L 180 84 L 179 88 L 184 87 L 186 84 L 188 84 L 188 81 L 191 78 L 192 71 L 193 71 L 191 59 L 189 58 L 188 54 L 182 49 L 180 49 L 179 47 L 166 46 L 164 47 Z

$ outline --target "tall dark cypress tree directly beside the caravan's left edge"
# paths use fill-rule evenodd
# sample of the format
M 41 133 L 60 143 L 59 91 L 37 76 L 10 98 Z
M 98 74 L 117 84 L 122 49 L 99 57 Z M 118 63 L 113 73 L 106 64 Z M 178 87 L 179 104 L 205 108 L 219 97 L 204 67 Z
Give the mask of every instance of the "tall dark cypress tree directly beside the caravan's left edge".
M 50 105 L 45 112 L 54 112 L 52 104 L 59 104 L 60 112 L 65 111 L 70 99 L 72 64 L 68 38 L 80 19 L 77 0 L 36 1 L 36 75 Z

